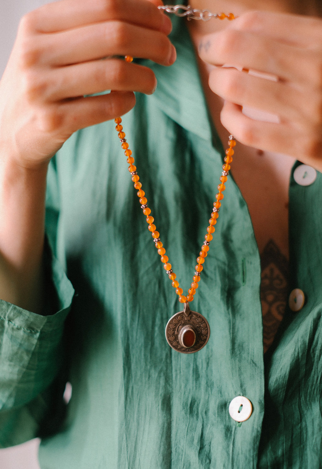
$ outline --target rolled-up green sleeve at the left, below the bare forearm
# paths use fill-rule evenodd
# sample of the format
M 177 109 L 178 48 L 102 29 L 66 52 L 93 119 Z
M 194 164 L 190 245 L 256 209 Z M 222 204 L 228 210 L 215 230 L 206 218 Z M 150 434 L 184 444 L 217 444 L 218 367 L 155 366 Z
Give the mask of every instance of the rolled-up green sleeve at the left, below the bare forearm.
M 51 252 L 46 256 L 54 288 L 46 298 L 44 315 L 0 300 L 1 447 L 37 435 L 37 420 L 45 411 L 41 393 L 57 375 L 64 356 L 62 336 L 74 289 Z

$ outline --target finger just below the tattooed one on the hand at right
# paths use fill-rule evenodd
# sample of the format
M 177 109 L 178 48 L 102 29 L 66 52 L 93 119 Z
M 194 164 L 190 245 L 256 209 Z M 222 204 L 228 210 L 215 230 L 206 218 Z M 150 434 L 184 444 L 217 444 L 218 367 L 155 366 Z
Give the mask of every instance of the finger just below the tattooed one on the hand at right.
M 272 82 L 234 68 L 215 68 L 210 72 L 209 86 L 227 101 L 277 114 L 281 121 L 312 118 L 307 96 L 289 83 Z

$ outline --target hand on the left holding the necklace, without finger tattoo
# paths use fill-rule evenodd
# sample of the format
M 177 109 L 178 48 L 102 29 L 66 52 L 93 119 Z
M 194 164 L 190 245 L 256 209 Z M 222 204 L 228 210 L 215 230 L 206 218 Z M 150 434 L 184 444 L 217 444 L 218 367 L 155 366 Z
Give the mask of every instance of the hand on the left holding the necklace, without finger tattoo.
M 133 91 L 153 93 L 149 68 L 115 56 L 175 61 L 160 4 L 61 0 L 25 15 L 0 81 L 0 158 L 43 166 L 76 130 L 129 111 Z

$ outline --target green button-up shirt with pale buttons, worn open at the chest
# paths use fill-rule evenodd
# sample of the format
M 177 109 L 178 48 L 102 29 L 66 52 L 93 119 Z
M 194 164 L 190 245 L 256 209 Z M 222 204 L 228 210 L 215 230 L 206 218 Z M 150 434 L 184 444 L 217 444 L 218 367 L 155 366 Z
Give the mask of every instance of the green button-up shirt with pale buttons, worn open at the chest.
M 224 150 L 187 30 L 181 19 L 173 23 L 178 59 L 170 68 L 141 61 L 156 73 L 157 91 L 138 95 L 123 125 L 186 291 Z M 259 253 L 247 205 L 229 178 L 191 305 L 208 319 L 210 340 L 184 355 L 165 340 L 182 305 L 114 127 L 77 132 L 52 160 L 46 257 L 56 295 L 48 294 L 44 315 L 0 302 L 0 445 L 40 435 L 42 469 L 322 467 L 321 174 L 307 187 L 291 176 L 290 290 L 301 288 L 306 304 L 286 310 L 265 358 Z M 73 392 L 65 404 L 67 381 Z M 242 424 L 228 412 L 239 395 L 253 405 Z

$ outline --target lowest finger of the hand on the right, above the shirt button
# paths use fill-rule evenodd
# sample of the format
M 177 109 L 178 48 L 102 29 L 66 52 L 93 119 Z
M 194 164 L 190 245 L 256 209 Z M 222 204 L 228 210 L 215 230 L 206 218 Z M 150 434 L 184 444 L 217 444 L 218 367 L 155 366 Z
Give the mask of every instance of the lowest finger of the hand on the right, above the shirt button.
M 319 159 L 317 148 L 321 145 L 321 131 L 313 137 L 309 129 L 289 123 L 255 121 L 241 112 L 241 107 L 225 101 L 220 120 L 240 143 L 265 151 L 283 153 L 312 164 Z M 319 135 L 318 135 L 319 134 Z M 318 166 L 320 166 L 320 169 Z M 321 163 L 314 162 L 321 171 Z

